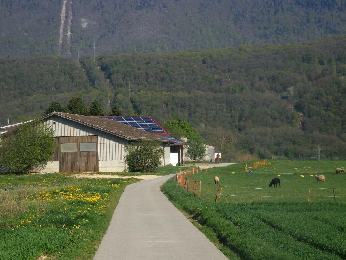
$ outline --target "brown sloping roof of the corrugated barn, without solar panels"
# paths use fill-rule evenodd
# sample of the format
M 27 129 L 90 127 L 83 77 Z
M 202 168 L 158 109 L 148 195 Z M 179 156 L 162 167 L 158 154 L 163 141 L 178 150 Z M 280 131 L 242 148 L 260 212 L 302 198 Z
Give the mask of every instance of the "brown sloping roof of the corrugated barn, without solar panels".
M 41 119 L 48 118 L 52 115 L 61 116 L 62 118 L 70 119 L 75 122 L 79 122 L 84 125 L 88 125 L 92 128 L 99 129 L 104 132 L 108 132 L 112 135 L 116 135 L 127 140 L 155 140 L 160 142 L 174 143 L 174 141 L 169 140 L 167 138 L 154 135 L 153 133 L 149 133 L 135 127 L 131 127 L 130 125 L 119 123 L 115 120 L 109 120 L 105 118 L 99 118 L 95 116 L 87 116 L 87 115 L 76 115 L 70 113 L 63 112 L 53 112 L 44 116 Z

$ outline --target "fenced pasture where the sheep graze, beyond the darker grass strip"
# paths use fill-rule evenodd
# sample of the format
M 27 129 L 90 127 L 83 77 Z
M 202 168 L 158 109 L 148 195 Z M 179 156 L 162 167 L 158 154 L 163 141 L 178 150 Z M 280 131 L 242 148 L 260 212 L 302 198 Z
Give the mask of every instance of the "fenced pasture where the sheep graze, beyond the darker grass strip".
M 214 176 L 218 176 L 220 189 L 223 186 L 220 201 L 307 201 L 310 189 L 310 201 L 334 201 L 335 194 L 337 201 L 346 202 L 346 174 L 335 173 L 335 168 L 342 165 L 346 162 L 270 161 L 265 167 L 252 169 L 253 173 L 249 173 L 244 170 L 245 163 L 234 164 L 194 174 L 189 177 L 189 183 L 191 186 L 193 179 L 201 181 L 202 198 L 211 201 L 215 200 L 218 189 Z M 318 183 L 315 175 L 324 175 L 325 182 Z M 276 177 L 280 178 L 281 188 L 279 185 L 269 188 L 268 184 Z M 198 194 L 199 185 L 196 187 Z M 334 188 L 334 194 L 331 188 Z

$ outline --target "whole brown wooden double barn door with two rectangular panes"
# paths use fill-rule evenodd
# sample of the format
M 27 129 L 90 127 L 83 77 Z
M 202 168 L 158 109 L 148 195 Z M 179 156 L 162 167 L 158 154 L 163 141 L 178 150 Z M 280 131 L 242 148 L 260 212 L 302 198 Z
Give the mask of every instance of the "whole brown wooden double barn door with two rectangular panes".
M 59 137 L 59 172 L 98 172 L 97 136 Z

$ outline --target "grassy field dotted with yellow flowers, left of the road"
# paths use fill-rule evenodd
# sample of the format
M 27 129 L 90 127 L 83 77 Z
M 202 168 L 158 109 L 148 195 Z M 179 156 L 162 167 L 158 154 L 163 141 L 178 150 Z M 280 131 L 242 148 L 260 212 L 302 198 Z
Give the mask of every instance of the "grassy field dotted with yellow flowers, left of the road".
M 0 175 L 0 259 L 92 259 L 136 179 Z

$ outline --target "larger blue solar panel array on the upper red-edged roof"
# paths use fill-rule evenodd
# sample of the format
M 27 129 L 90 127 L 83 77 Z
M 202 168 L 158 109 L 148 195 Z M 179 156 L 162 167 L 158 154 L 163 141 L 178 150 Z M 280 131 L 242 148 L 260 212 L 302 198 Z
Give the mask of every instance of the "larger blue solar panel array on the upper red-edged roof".
M 112 119 L 150 133 L 166 133 L 149 116 L 102 116 L 102 118 Z

